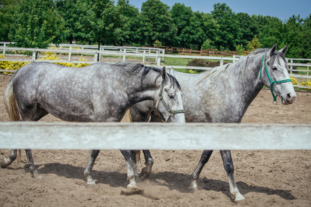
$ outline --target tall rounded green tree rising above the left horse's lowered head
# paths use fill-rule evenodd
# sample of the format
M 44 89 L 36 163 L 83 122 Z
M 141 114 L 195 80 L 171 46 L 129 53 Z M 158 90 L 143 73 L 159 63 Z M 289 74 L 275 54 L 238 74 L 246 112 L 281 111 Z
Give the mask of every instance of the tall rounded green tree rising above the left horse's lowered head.
M 176 38 L 176 26 L 173 24 L 169 6 L 160 0 L 147 0 L 142 3 L 140 13 L 141 32 L 144 37 L 143 45 L 153 46 L 154 41 L 171 46 Z

